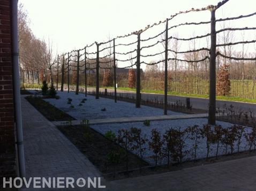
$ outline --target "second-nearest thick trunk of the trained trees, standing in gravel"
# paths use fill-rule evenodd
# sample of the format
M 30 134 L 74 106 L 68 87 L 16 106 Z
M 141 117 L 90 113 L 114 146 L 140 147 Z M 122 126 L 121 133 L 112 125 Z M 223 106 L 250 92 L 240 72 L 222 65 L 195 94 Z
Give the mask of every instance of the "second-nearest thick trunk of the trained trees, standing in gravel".
M 138 44 L 137 44 L 137 78 L 136 78 L 136 108 L 140 108 L 140 33 L 138 33 Z

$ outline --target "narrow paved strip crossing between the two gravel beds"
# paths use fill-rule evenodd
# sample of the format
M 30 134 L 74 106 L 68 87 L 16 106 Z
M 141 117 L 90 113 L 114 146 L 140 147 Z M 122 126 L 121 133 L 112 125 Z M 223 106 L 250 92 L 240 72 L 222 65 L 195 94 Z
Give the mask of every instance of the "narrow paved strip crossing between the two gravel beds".
M 123 118 L 107 118 L 107 119 L 91 119 L 89 123 L 91 125 L 96 124 L 112 124 L 112 123 L 130 123 L 130 122 L 139 122 L 139 121 L 155 121 L 155 120 L 173 120 L 173 119 L 194 119 L 194 118 L 205 118 L 208 117 L 208 114 L 180 114 L 174 116 L 147 116 L 147 117 L 123 117 Z M 72 125 L 79 125 L 82 120 L 73 120 Z M 52 124 L 66 125 L 69 121 L 52 121 Z

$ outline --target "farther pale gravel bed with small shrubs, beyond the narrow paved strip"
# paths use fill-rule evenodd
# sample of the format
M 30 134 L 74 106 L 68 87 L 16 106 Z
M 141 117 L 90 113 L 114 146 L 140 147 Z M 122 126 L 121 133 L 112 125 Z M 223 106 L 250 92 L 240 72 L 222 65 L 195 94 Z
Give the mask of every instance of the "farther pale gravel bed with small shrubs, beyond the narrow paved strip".
M 65 111 L 70 116 L 77 120 L 83 119 L 104 119 L 104 118 L 121 118 L 121 117 L 143 117 L 143 116 L 161 116 L 163 109 L 152 108 L 149 106 L 141 105 L 141 108 L 135 108 L 135 104 L 102 98 L 95 99 L 95 96 L 79 93 L 76 95 L 74 92 L 67 93 L 67 91 L 58 91 L 59 100 L 47 98 L 44 101 L 56 106 L 57 108 Z M 72 98 L 72 103 L 67 104 L 67 98 Z M 85 103 L 79 103 L 82 99 L 86 98 Z M 73 105 L 74 108 L 70 108 Z M 101 109 L 106 108 L 106 111 Z M 180 114 L 178 112 L 168 111 L 169 115 Z

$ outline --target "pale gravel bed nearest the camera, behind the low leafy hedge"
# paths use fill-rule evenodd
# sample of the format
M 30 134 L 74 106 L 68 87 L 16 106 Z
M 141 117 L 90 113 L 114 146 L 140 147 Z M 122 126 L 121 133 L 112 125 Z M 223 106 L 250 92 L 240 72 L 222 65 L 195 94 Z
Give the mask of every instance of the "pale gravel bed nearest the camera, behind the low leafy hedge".
M 112 132 L 117 133 L 118 129 L 126 128 L 130 129 L 131 127 L 137 127 L 141 128 L 142 135 L 146 135 L 147 139 L 150 139 L 150 134 L 153 128 L 156 128 L 157 131 L 161 133 L 161 136 L 165 131 L 167 131 L 169 128 L 187 128 L 189 126 L 193 125 L 199 125 L 201 128 L 204 124 L 207 124 L 207 119 L 200 118 L 200 119 L 177 119 L 177 120 L 162 120 L 162 121 L 150 121 L 150 126 L 145 126 L 142 122 L 134 122 L 134 123 L 122 123 L 122 124 L 103 124 L 103 125 L 91 125 L 92 128 L 94 128 L 96 131 L 105 134 L 107 131 L 111 130 Z M 217 124 L 221 125 L 223 128 L 231 127 L 234 124 L 226 123 L 223 121 L 217 121 Z M 245 128 L 245 132 L 251 131 L 250 127 Z M 193 141 L 190 139 L 186 140 L 186 146 L 184 150 L 190 150 L 189 154 L 187 154 L 184 157 L 185 161 L 190 161 L 192 157 L 192 150 L 193 147 Z M 245 137 L 242 137 L 242 143 L 240 144 L 240 151 L 243 150 L 249 150 L 249 146 L 246 145 Z M 149 148 L 147 145 L 146 148 Z M 215 156 L 216 155 L 216 144 L 213 144 L 210 147 L 210 153 L 209 156 Z M 234 152 L 237 151 L 237 143 L 235 143 Z M 205 158 L 206 157 L 206 139 L 201 139 L 201 142 L 198 144 L 197 149 L 197 158 Z M 228 152 L 230 152 L 230 148 L 228 148 Z M 225 154 L 225 147 L 220 145 L 219 147 L 219 155 Z M 153 155 L 153 152 L 147 149 L 145 153 L 145 160 L 154 165 L 154 159 L 150 158 L 150 156 Z M 167 159 L 162 159 L 160 164 L 167 164 Z

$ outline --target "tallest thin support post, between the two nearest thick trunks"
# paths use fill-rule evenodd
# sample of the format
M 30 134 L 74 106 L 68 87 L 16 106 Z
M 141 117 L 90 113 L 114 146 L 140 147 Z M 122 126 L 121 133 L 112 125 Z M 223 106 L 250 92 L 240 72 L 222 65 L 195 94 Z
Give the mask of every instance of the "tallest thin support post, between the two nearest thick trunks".
M 165 25 L 165 60 L 164 60 L 164 112 L 167 114 L 167 91 L 168 91 L 168 19 Z

